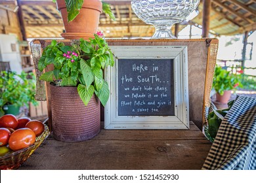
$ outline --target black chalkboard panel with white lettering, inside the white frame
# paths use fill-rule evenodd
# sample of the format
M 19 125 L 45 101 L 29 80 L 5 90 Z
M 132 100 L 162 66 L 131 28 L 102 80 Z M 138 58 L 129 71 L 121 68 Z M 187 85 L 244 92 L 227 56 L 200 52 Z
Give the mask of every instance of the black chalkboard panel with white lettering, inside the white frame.
M 118 59 L 118 115 L 172 116 L 173 59 Z

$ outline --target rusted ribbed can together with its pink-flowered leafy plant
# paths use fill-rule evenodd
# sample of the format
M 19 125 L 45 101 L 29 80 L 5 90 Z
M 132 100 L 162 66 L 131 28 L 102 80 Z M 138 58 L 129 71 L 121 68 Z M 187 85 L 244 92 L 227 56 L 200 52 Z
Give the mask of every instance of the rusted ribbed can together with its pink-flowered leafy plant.
M 103 78 L 114 58 L 102 34 L 94 39 L 53 40 L 43 50 L 38 69 L 54 65 L 40 80 L 51 82 L 53 136 L 60 141 L 84 141 L 100 131 L 100 103 L 106 105 L 110 90 Z M 80 108 L 79 108 L 80 107 Z

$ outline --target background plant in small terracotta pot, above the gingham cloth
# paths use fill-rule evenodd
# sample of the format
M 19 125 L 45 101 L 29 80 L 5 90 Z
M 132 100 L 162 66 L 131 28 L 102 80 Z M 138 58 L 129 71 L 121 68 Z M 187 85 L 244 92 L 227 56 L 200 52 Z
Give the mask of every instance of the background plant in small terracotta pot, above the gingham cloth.
M 216 92 L 217 101 L 227 103 L 230 99 L 231 91 L 242 87 L 240 76 L 226 71 L 221 66 L 215 67 L 213 89 Z

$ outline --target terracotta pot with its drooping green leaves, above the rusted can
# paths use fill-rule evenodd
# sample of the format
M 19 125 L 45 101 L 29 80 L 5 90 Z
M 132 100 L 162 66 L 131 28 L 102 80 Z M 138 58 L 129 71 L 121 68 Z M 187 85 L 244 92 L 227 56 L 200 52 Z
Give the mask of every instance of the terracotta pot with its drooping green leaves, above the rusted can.
M 100 0 L 53 0 L 56 1 L 58 10 L 66 33 L 62 37 L 66 39 L 88 39 L 93 37 L 98 29 L 100 13 L 105 12 L 115 20 L 110 5 Z

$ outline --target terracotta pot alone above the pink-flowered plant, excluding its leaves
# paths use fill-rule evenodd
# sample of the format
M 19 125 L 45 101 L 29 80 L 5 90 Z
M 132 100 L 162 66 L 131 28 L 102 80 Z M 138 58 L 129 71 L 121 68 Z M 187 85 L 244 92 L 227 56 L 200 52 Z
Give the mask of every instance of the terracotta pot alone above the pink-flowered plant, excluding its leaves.
M 66 33 L 61 36 L 65 39 L 89 39 L 98 30 L 102 2 L 99 0 L 85 0 L 77 17 L 68 23 L 68 12 L 64 0 L 56 0 L 57 8 L 61 13 Z

